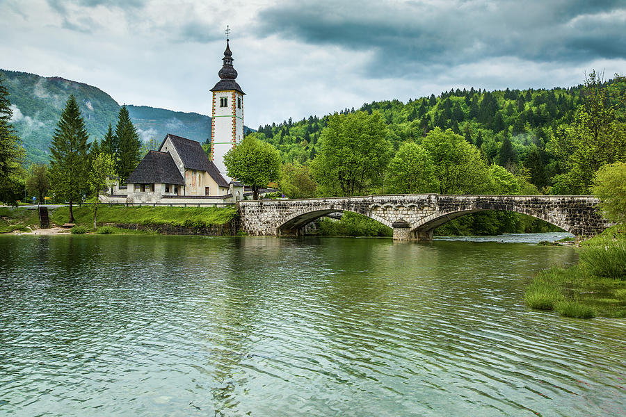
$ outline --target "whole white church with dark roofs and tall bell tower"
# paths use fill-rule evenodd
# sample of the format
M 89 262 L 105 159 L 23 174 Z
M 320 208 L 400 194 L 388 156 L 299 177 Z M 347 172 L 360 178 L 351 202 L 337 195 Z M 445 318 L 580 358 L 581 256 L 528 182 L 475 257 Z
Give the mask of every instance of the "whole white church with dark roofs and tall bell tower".
M 243 184 L 228 177 L 225 154 L 243 139 L 243 95 L 235 81 L 230 40 L 226 40 L 220 81 L 211 88 L 211 158 L 200 142 L 168 135 L 131 172 L 127 185 L 101 195 L 103 202 L 126 204 L 199 204 L 236 202 L 244 198 Z M 206 201 L 204 201 L 206 200 Z

